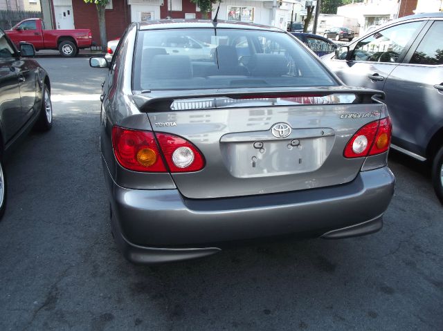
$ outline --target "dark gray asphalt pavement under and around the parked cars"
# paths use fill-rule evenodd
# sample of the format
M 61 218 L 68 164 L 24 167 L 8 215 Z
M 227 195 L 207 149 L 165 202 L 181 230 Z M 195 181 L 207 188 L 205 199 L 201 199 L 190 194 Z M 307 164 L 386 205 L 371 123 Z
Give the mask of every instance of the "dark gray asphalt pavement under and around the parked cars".
M 110 234 L 98 149 L 106 70 L 38 62 L 54 122 L 6 164 L 0 330 L 443 330 L 443 207 L 424 164 L 391 153 L 377 234 L 132 265 Z

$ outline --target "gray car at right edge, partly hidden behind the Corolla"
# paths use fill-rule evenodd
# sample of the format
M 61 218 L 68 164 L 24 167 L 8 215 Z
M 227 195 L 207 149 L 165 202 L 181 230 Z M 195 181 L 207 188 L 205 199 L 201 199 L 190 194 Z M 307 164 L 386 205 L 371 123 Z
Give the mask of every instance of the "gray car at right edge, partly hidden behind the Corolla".
M 443 202 L 442 36 L 443 13 L 402 17 L 322 59 L 345 84 L 386 93 L 392 148 L 430 161 Z

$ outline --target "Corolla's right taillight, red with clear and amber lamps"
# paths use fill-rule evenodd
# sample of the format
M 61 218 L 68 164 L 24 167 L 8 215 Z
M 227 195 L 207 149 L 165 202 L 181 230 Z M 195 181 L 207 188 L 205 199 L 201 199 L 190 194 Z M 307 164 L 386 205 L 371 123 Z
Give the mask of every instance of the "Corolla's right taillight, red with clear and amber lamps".
M 345 158 L 363 158 L 388 151 L 392 133 L 390 118 L 370 122 L 357 131 L 345 147 Z

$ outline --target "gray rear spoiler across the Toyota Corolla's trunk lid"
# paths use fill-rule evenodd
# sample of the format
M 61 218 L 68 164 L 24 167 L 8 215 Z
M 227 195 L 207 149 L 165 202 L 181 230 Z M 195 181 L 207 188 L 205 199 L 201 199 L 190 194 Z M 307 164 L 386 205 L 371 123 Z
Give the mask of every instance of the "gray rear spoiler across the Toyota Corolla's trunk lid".
M 183 93 L 188 92 L 188 93 Z M 204 92 L 204 93 L 203 93 Z M 313 104 L 374 104 L 383 102 L 385 93 L 368 88 L 303 88 L 249 91 L 134 91 L 133 100 L 142 112 L 180 111 L 242 106 L 289 106 Z M 256 103 L 254 105 L 253 103 Z

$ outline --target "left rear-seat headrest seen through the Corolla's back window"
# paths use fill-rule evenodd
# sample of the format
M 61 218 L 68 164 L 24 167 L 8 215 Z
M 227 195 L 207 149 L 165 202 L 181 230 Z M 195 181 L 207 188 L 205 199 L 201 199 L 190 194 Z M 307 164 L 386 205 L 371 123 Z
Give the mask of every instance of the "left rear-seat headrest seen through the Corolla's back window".
M 186 55 L 155 55 L 148 70 L 153 79 L 192 78 L 191 61 Z

